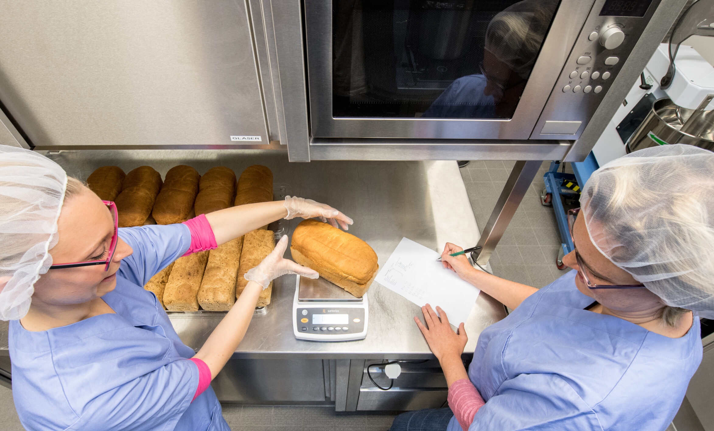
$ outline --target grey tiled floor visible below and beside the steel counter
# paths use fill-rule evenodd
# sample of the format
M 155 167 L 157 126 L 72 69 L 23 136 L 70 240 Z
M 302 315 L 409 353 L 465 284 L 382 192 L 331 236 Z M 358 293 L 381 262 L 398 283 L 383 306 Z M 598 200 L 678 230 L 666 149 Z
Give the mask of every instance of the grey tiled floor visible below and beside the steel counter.
M 560 239 L 553 208 L 542 206 L 539 198 L 549 164 L 541 166 L 491 257 L 493 273 L 537 288 L 565 273 L 555 268 Z M 486 225 L 512 167 L 509 161 L 472 161 L 461 168 L 479 228 Z M 335 412 L 333 407 L 223 406 L 223 417 L 233 431 L 385 431 L 394 415 L 396 412 Z M 12 392 L 0 387 L 0 430 L 22 429 Z

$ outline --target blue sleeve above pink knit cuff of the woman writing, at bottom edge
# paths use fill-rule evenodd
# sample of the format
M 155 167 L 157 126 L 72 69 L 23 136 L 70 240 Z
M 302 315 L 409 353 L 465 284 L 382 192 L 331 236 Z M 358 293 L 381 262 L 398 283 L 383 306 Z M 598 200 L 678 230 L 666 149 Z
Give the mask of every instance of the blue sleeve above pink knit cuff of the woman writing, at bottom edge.
M 555 374 L 506 380 L 473 417 L 469 431 L 602 430 L 593 409 Z

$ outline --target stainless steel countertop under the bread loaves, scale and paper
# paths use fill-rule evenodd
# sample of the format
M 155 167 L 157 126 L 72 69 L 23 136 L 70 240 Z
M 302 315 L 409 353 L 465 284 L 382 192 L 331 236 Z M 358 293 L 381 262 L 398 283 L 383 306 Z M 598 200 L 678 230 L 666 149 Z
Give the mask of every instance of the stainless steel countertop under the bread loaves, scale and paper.
M 141 165 L 163 176 L 178 164 L 204 173 L 228 166 L 240 175 L 263 164 L 276 183 L 287 183 L 296 196 L 328 203 L 354 219 L 349 232 L 374 248 L 380 267 L 403 236 L 434 250 L 444 243 L 464 247 L 479 238 L 466 187 L 455 161 L 313 161 L 289 163 L 284 151 L 135 150 L 63 151 L 50 154 L 69 175 L 86 179 L 95 168 L 116 165 L 128 172 Z M 290 233 L 301 221 L 290 220 Z M 288 255 L 289 255 L 288 248 Z M 412 318 L 419 307 L 379 283 L 369 289 L 369 323 L 364 340 L 317 342 L 296 340 L 292 329 L 295 275 L 278 278 L 264 315 L 253 317 L 234 358 L 426 358 L 431 351 Z M 186 345 L 198 350 L 224 313 L 170 313 Z M 503 305 L 485 293 L 466 322 L 466 353 L 488 325 L 505 317 Z M 0 350 L 7 352 L 7 323 L 0 325 Z M 2 353 L 0 352 L 0 355 Z

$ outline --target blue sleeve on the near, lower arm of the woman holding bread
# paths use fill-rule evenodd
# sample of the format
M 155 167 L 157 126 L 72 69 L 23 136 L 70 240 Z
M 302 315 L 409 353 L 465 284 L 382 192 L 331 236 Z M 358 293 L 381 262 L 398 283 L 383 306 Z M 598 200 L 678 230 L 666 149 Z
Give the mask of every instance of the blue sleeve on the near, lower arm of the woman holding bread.
M 174 430 L 198 386 L 198 368 L 176 360 L 91 400 L 67 430 Z

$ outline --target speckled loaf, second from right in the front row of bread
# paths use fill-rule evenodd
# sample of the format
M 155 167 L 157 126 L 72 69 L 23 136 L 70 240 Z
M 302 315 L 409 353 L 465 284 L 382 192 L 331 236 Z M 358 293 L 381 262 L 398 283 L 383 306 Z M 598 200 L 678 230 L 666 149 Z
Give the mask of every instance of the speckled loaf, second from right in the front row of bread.
M 208 253 L 208 264 L 198 290 L 198 304 L 203 310 L 228 311 L 233 307 L 242 249 L 241 236 Z

